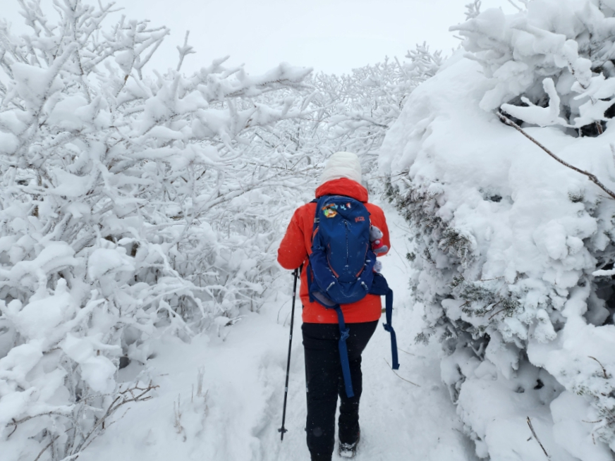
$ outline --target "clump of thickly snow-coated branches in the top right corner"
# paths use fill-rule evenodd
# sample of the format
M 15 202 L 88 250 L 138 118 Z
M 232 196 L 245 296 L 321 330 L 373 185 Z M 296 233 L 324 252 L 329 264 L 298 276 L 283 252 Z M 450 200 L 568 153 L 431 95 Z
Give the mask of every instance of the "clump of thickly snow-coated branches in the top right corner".
M 527 8 L 511 16 L 490 9 L 451 27 L 494 82 L 481 107 L 510 103 L 502 109 L 527 123 L 601 134 L 615 104 L 615 4 L 535 0 Z

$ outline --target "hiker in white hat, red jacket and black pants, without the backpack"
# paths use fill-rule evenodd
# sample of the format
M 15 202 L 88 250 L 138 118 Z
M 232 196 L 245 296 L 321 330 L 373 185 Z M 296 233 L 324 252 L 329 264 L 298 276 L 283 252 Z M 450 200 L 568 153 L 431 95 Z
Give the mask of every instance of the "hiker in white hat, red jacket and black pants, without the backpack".
M 316 190 L 317 199 L 326 196 L 350 197 L 362 202 L 370 214 L 372 251 L 377 256 L 388 252 L 391 244 L 384 212 L 376 205 L 367 202 L 367 189 L 361 185 L 361 166 L 358 156 L 350 152 L 337 152 L 329 158 L 322 171 L 320 185 Z M 339 316 L 334 309 L 327 309 L 314 300 L 313 296 L 310 302 L 310 293 L 308 293 L 308 275 L 310 280 L 313 276 L 313 274 L 308 274 L 311 270 L 308 266 L 308 255 L 312 253 L 312 233 L 317 233 L 316 212 L 317 203 L 315 202 L 305 204 L 295 211 L 280 244 L 278 262 L 285 269 L 291 270 L 303 265 L 300 276 L 300 299 L 303 303 L 301 329 L 307 384 L 307 423 L 305 426 L 307 448 L 310 450 L 312 461 L 331 461 L 335 445 L 335 413 L 338 395 L 341 399 L 340 455 L 353 457 L 356 452 L 360 438 L 361 354 L 377 327 L 382 314 L 382 302 L 377 295 L 363 293 L 363 299 L 358 302 L 340 305 L 343 319 L 349 330 L 346 347 L 354 393 L 354 396 L 349 398 L 339 352 L 341 337 Z M 334 209 L 329 215 L 325 213 L 325 216 L 333 216 L 335 213 Z M 363 218 L 357 220 L 363 221 Z M 375 264 L 374 270 L 379 271 L 380 264 L 375 262 L 375 258 L 370 264 Z M 331 267 L 330 264 L 329 267 Z M 384 278 L 382 280 L 384 281 Z

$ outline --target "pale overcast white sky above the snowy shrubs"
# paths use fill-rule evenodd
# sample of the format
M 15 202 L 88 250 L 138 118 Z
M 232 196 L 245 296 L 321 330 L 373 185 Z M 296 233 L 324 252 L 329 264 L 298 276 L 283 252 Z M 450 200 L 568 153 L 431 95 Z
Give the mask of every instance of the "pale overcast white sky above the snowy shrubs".
M 128 18 L 166 25 L 171 36 L 152 66 L 175 67 L 176 45 L 190 30 L 197 54 L 188 56 L 183 70 L 191 71 L 212 59 L 231 55 L 229 63 L 245 63 L 260 73 L 282 61 L 329 73 L 382 61 L 402 59 L 415 44 L 450 54 L 460 41 L 449 26 L 465 20 L 471 0 L 117 0 Z M 0 0 L 0 17 L 20 30 L 16 0 Z M 106 1 L 103 0 L 103 3 Z M 42 0 L 51 4 L 51 0 Z M 483 7 L 514 11 L 509 0 L 483 0 Z M 120 13 L 116 13 L 119 17 Z M 109 23 L 110 24 L 110 23 Z

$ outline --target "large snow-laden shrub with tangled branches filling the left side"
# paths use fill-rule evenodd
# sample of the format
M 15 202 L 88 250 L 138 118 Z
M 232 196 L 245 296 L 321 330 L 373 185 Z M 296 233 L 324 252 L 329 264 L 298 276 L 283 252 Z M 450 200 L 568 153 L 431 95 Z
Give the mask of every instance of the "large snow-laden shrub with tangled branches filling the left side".
M 0 23 L 0 451 L 11 460 L 74 459 L 154 388 L 118 384 L 121 362 L 143 363 L 162 332 L 188 337 L 262 292 L 272 270 L 250 258 L 274 237 L 237 201 L 273 201 L 259 190 L 287 178 L 264 171 L 276 161 L 266 154 L 253 166 L 245 145 L 305 104 L 253 99 L 303 89 L 310 72 L 253 77 L 221 60 L 149 76 L 166 27 L 122 18 L 103 30 L 111 6 L 55 5 L 52 22 L 22 2 L 29 35 Z

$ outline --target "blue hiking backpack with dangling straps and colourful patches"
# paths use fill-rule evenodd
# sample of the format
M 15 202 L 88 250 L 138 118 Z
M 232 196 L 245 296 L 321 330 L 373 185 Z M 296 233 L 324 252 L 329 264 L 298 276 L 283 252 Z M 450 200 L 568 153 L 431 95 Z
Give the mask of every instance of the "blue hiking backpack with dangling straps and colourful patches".
M 340 305 L 360 301 L 368 294 L 386 296 L 384 329 L 391 333 L 393 369 L 398 369 L 396 336 L 391 326 L 393 291 L 384 276 L 373 270 L 376 255 L 370 242 L 370 212 L 365 205 L 343 195 L 324 195 L 312 202 L 316 203 L 316 214 L 307 269 L 310 302 L 337 313 L 342 374 L 350 398 L 354 392 L 346 347 L 349 331 Z

